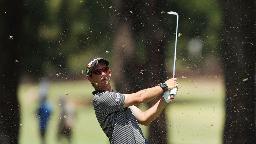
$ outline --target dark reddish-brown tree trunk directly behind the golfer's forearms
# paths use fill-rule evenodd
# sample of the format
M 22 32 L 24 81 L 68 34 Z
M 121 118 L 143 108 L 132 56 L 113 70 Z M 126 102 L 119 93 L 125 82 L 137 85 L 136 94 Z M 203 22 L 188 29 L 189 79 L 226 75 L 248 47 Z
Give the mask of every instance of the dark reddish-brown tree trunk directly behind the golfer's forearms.
M 154 0 L 151 2 L 152 3 L 146 7 L 148 17 L 146 19 L 147 25 L 145 28 L 147 48 L 145 80 L 148 87 L 153 87 L 159 83 L 163 83 L 167 79 L 165 70 L 166 57 L 164 52 L 166 51 L 166 38 L 168 36 L 163 28 L 163 14 L 160 11 L 164 10 L 164 1 Z M 169 75 L 168 78 L 171 78 L 171 75 Z M 152 107 L 161 98 L 161 96 L 162 95 L 147 103 L 148 107 Z M 151 144 L 168 143 L 164 111 L 149 125 L 148 137 L 149 143 Z

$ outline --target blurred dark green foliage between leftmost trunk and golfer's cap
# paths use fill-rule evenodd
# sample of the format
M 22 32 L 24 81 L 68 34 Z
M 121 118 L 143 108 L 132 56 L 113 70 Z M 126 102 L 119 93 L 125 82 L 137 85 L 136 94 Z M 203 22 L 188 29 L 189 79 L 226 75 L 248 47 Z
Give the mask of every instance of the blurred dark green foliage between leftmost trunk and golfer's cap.
M 30 61 L 25 62 L 23 74 L 72 79 L 85 68 L 81 62 L 96 53 L 111 52 L 109 4 L 94 0 L 26 0 L 24 29 Z

